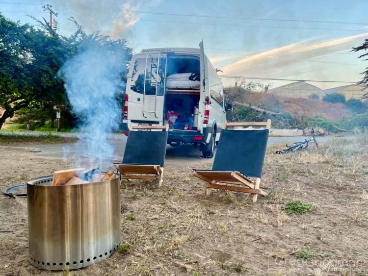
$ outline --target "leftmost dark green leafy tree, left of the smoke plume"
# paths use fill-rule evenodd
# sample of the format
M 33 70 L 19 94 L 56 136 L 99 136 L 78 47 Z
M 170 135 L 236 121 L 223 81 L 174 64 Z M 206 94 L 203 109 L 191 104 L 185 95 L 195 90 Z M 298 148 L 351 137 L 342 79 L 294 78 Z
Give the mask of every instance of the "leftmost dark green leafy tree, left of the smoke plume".
M 0 128 L 14 112 L 29 106 L 63 101 L 62 83 L 55 78 L 68 56 L 59 37 L 0 14 Z

